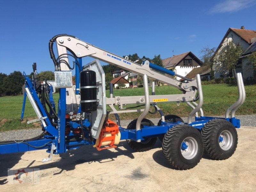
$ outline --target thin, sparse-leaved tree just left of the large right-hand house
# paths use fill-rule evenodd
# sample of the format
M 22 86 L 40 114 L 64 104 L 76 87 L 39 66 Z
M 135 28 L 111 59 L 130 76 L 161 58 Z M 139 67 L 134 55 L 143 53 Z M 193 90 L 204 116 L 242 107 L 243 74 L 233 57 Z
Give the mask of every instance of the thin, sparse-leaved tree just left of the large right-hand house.
M 209 68 L 211 68 L 211 79 L 214 79 L 214 71 L 213 71 L 213 66 L 214 66 L 214 62 L 213 62 L 213 58 L 214 58 L 214 54 L 215 54 L 216 48 L 209 48 L 209 47 L 204 47 L 201 50 L 201 54 L 202 57 L 200 58 L 203 62 L 204 62 L 204 66 L 208 66 Z

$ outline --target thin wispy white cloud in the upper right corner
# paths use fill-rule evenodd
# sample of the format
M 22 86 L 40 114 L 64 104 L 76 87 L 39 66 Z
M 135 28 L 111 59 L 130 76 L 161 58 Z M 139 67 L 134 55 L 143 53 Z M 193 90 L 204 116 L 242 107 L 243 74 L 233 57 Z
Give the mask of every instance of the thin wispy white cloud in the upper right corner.
M 255 4 L 255 0 L 225 0 L 215 5 L 211 13 L 236 12 Z

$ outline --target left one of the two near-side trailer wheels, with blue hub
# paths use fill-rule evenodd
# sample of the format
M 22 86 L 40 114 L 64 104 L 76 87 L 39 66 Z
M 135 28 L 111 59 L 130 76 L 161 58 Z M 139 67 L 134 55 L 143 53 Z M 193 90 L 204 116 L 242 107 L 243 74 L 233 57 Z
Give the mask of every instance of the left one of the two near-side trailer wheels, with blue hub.
M 162 151 L 175 168 L 191 169 L 202 159 L 203 139 L 195 128 L 186 124 L 175 125 L 164 135 Z

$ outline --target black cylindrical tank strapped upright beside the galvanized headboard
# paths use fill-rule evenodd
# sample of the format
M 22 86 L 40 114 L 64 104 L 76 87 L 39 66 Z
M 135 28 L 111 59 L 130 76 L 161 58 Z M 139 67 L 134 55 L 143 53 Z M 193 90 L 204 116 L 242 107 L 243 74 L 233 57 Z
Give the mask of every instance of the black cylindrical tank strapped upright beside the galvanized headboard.
M 92 70 L 80 72 L 81 110 L 86 113 L 97 110 L 96 73 Z

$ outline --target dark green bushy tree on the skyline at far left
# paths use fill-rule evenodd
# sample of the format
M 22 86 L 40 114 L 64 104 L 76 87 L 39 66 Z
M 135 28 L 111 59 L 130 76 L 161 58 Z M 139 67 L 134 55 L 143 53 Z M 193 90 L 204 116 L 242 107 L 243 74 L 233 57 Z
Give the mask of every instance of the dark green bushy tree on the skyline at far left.
M 25 79 L 20 71 L 14 71 L 3 79 L 5 95 L 18 95 L 22 93 L 22 86 Z

